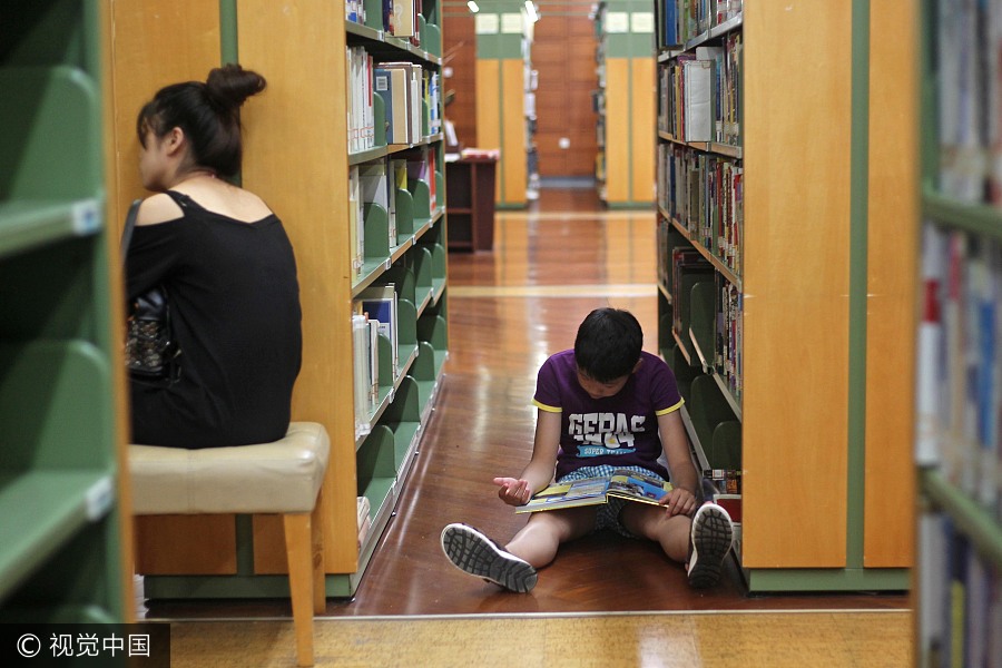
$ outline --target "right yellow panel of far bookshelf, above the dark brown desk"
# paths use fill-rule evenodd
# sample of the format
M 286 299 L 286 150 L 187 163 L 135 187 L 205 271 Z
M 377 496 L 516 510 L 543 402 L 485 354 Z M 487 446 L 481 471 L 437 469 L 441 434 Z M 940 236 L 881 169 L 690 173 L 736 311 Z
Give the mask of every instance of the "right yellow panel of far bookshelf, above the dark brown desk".
M 524 63 L 521 60 L 501 61 L 501 122 L 504 136 L 501 147 L 501 186 L 499 202 L 525 204 L 525 186 L 529 178 L 525 155 L 525 95 L 523 92 Z

